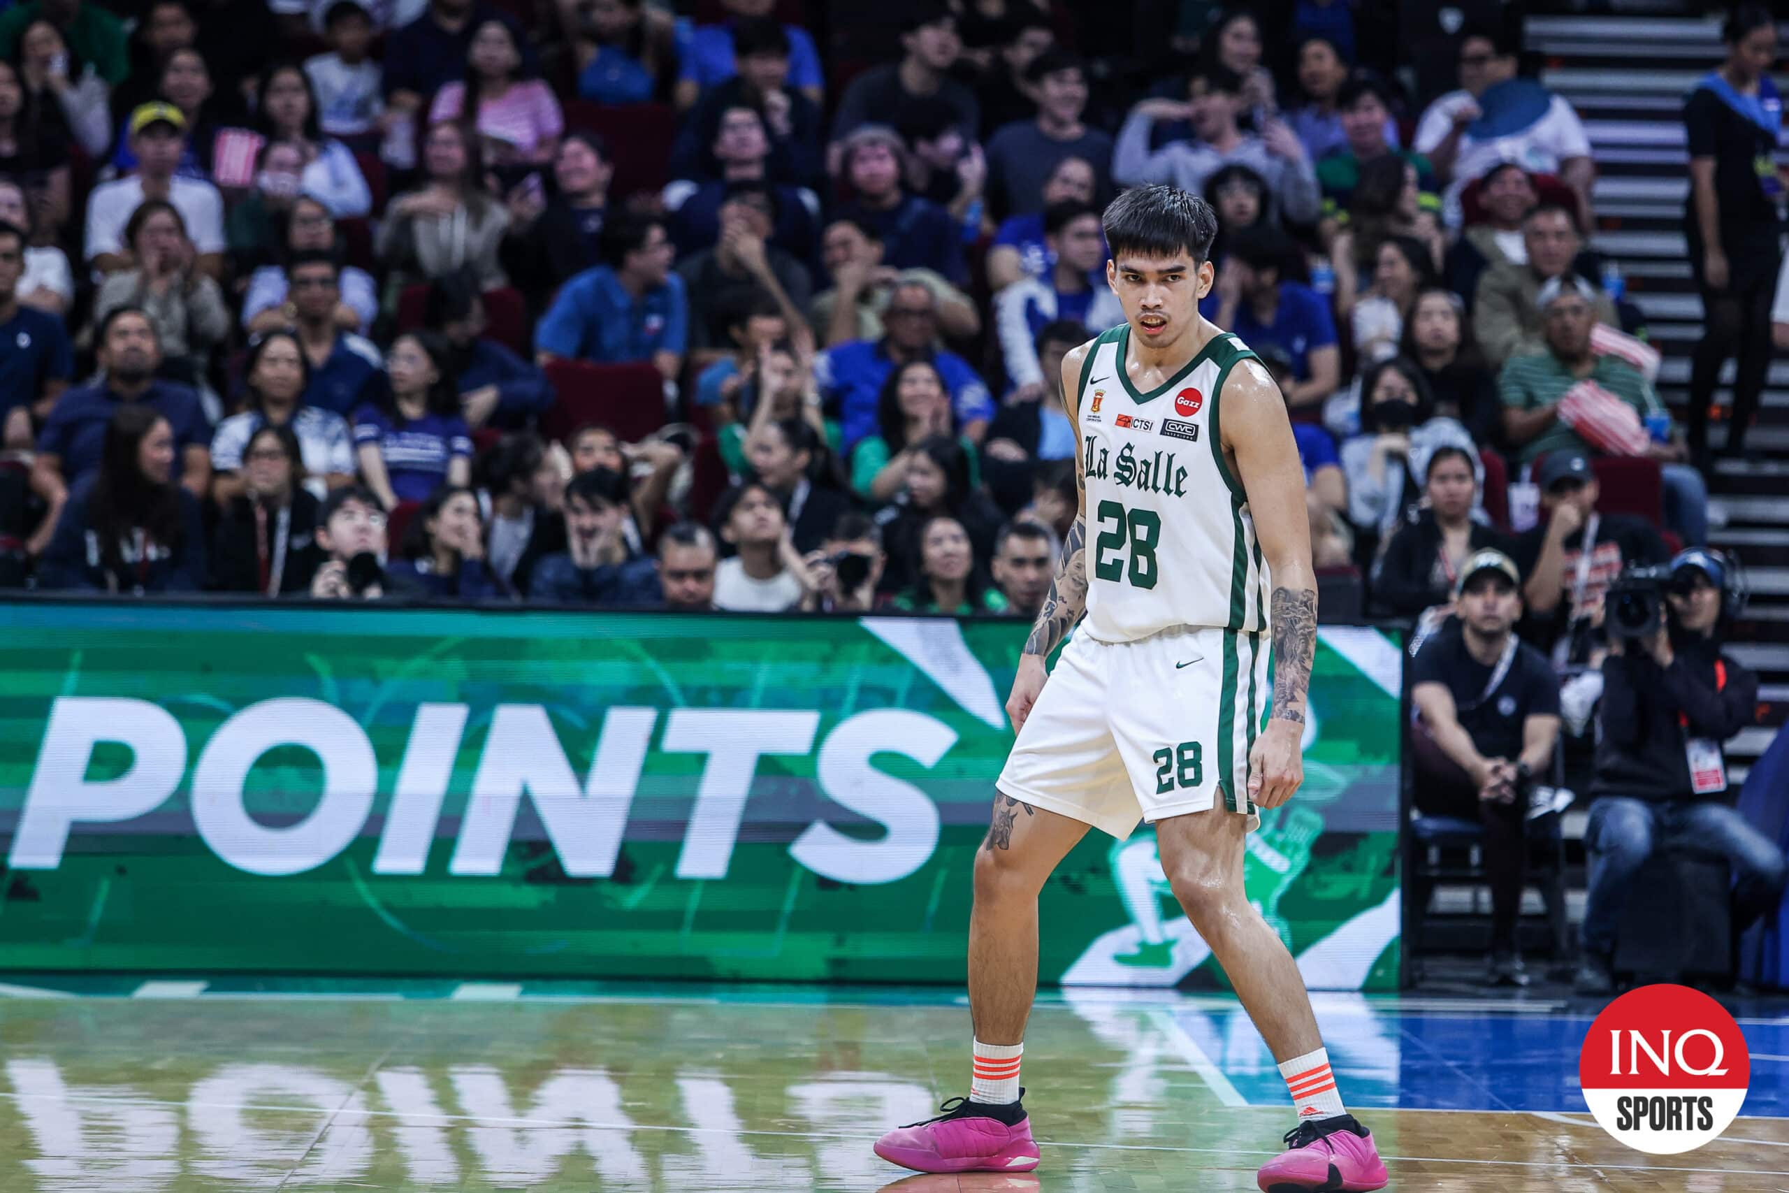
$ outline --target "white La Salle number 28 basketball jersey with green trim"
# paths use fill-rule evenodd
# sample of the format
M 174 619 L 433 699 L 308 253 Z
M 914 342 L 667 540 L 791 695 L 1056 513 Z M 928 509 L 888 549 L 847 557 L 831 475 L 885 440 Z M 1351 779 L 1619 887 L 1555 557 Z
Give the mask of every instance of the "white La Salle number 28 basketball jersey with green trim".
M 1088 487 L 1088 615 L 1082 631 L 1131 642 L 1170 626 L 1268 628 L 1267 563 L 1247 494 L 1218 438 L 1218 393 L 1254 352 L 1217 334 L 1170 381 L 1131 385 L 1118 324 L 1081 368 Z

